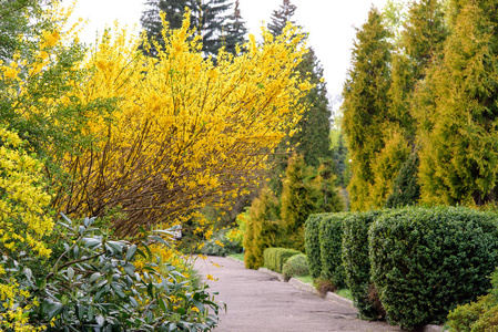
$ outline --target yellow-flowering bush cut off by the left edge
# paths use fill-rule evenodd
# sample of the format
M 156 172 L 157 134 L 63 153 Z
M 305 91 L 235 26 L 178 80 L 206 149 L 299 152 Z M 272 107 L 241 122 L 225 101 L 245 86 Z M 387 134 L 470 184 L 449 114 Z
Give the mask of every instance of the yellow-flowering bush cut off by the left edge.
M 50 250 L 41 240 L 51 231 L 53 220 L 44 212 L 50 195 L 43 191 L 42 164 L 22 149 L 16 133 L 0 127 L 0 326 L 13 331 L 37 331 L 27 325 L 29 305 L 18 305 L 27 299 L 10 276 L 7 263 L 18 260 L 21 251 L 32 257 L 48 257 Z

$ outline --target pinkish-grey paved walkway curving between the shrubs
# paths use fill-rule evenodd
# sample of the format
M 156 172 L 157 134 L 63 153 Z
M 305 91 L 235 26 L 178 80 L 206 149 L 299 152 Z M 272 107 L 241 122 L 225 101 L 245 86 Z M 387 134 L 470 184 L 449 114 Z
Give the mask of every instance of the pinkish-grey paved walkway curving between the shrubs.
M 209 282 L 210 291 L 217 291 L 216 300 L 227 304 L 216 332 L 400 331 L 385 322 L 358 320 L 347 303 L 324 300 L 266 272 L 244 269 L 242 262 L 210 260 L 199 259 L 195 264 L 204 277 L 218 279 Z

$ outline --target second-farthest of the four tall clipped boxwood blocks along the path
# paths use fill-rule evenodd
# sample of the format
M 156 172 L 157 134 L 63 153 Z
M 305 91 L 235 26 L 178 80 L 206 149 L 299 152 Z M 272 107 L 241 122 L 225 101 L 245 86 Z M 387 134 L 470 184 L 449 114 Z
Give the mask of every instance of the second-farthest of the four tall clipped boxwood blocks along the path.
M 343 220 L 348 215 L 347 212 L 323 215 L 319 225 L 321 277 L 331 280 L 338 289 L 346 287 L 342 248 Z

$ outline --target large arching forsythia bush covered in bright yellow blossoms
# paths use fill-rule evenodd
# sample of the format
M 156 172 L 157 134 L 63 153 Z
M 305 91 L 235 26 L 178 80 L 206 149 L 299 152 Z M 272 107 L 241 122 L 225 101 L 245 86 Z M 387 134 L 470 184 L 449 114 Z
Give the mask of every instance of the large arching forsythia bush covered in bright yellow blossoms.
M 125 32 L 104 35 L 75 92 L 85 103 L 113 101 L 114 111 L 88 123 L 101 143 L 67 157 L 74 183 L 58 205 L 92 216 L 121 206 L 120 234 L 185 220 L 244 194 L 299 120 L 297 101 L 309 89 L 294 74 L 305 48 L 292 27 L 275 40 L 267 31 L 263 43 L 252 38 L 243 55 L 221 51 L 216 65 L 203 59 L 187 19 L 179 30 L 165 23 L 163 37 L 152 59 Z

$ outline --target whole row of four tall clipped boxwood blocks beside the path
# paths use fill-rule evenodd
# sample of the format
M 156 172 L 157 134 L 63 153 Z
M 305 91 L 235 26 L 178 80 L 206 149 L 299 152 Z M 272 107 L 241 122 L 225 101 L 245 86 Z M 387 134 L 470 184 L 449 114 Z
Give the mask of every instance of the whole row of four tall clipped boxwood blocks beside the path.
M 385 313 L 411 329 L 439 324 L 486 293 L 498 266 L 497 225 L 497 215 L 461 207 L 312 215 L 306 253 L 314 277 L 319 269 L 334 283 L 345 278 L 362 318 Z

